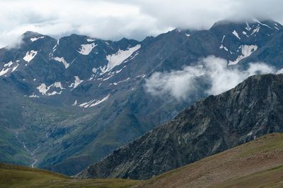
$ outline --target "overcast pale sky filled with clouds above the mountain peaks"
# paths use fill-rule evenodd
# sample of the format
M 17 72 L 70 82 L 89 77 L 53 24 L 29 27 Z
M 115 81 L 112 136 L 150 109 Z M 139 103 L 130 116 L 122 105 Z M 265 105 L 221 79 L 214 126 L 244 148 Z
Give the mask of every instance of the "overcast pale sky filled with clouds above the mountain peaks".
M 175 27 L 207 29 L 224 18 L 283 23 L 282 0 L 0 0 L 0 47 L 27 30 L 144 39 Z

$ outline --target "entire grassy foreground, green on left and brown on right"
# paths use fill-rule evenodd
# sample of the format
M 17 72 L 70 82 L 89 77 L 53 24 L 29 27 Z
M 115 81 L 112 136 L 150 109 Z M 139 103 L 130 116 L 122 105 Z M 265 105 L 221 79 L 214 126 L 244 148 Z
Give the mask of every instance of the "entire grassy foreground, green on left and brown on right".
M 0 163 L 0 187 L 283 187 L 283 134 L 268 134 L 146 182 L 74 180 Z

